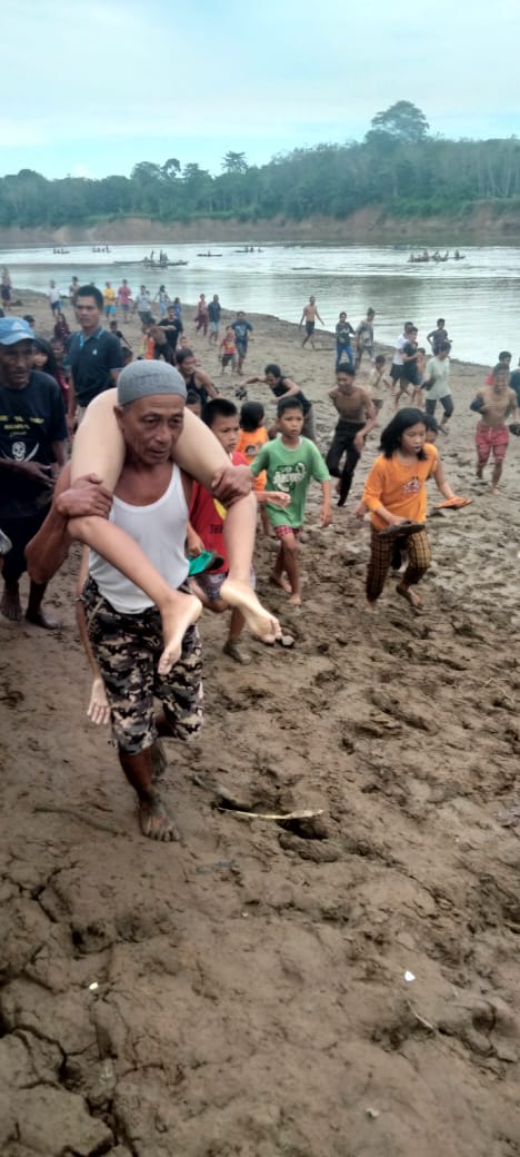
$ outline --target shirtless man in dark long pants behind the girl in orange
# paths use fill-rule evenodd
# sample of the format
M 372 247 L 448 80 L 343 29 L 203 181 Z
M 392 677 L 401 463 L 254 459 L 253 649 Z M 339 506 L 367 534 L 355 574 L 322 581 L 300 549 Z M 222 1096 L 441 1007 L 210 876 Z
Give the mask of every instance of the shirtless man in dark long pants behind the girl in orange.
M 329 391 L 340 415 L 334 437 L 326 455 L 329 474 L 337 478 L 337 506 L 343 507 L 352 485 L 354 471 L 365 447 L 365 437 L 377 422 L 378 412 L 366 392 L 354 384 L 354 370 L 347 362 L 336 370 L 336 384 Z M 340 463 L 346 455 L 343 470 Z

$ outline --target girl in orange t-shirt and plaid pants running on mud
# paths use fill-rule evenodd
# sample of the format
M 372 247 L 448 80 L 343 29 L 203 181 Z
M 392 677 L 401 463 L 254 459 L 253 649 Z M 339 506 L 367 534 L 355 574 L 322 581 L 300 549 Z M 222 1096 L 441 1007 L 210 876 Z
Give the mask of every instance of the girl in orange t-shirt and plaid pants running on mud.
M 419 611 L 422 599 L 411 588 L 419 582 L 431 562 L 424 529 L 426 480 L 433 478 L 445 499 L 452 500 L 455 495 L 444 477 L 437 448 L 426 442 L 426 425 L 421 410 L 407 406 L 399 411 L 381 433 L 380 449 L 363 493 L 372 522 L 366 574 L 367 610 L 374 610 L 382 592 L 398 539 L 400 544 L 406 541 L 408 566 L 395 589 L 414 610 Z

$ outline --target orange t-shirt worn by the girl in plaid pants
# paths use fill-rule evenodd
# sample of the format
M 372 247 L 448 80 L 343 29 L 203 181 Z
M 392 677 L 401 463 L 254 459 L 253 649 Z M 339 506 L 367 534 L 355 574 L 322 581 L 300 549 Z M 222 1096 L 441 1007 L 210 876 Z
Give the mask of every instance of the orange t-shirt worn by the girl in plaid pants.
M 401 462 L 399 452 L 395 451 L 392 458 L 385 458 L 382 454 L 376 458 L 363 492 L 363 502 L 370 510 L 376 530 L 384 530 L 388 525 L 376 514 L 379 506 L 386 507 L 399 518 L 425 521 L 428 501 L 425 482 L 431 478 L 439 460 L 437 448 L 431 442 L 425 443 L 424 456 L 423 460 L 416 458 L 415 462 Z

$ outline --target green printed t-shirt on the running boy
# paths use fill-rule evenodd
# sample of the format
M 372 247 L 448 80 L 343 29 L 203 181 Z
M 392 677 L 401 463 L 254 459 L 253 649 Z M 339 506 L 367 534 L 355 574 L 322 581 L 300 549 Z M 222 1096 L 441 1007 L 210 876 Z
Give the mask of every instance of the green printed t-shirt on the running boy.
M 300 526 L 305 514 L 305 499 L 311 479 L 317 482 L 328 482 L 329 473 L 324 458 L 307 437 L 299 440 L 299 445 L 290 450 L 281 437 L 266 442 L 251 464 L 257 478 L 262 470 L 267 471 L 266 491 L 282 491 L 290 494 L 291 501 L 284 509 L 266 502 L 267 516 L 272 526 Z

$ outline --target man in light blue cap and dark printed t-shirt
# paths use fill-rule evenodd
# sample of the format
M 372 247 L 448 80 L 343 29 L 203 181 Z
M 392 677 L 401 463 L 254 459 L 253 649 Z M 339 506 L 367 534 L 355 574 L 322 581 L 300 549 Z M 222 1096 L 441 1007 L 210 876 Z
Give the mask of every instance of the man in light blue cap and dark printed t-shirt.
M 46 518 L 54 476 L 67 460 L 61 390 L 49 374 L 32 369 L 34 341 L 23 318 L 0 319 L 0 526 L 13 544 L 3 559 L 0 612 L 14 621 L 22 618 L 25 546 Z M 30 583 L 25 618 L 52 628 L 58 624 L 42 609 L 45 587 Z

